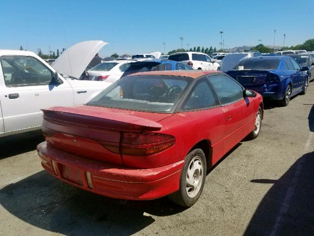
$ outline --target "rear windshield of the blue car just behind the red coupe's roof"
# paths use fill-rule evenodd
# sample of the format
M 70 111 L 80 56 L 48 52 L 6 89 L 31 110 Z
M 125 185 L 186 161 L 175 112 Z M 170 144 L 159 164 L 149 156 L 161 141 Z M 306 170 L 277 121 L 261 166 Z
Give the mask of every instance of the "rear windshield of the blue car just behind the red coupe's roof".
M 155 61 L 145 61 L 145 62 L 134 62 L 131 63 L 130 67 L 124 72 L 122 77 L 134 74 L 137 72 L 146 71 L 159 71 L 159 70 L 172 70 L 171 63 L 160 63 Z

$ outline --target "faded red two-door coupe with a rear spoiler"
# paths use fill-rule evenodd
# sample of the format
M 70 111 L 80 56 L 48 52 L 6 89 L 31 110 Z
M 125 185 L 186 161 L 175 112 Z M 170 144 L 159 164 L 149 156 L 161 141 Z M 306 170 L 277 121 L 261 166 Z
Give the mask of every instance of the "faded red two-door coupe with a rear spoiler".
M 259 135 L 262 96 L 218 71 L 124 77 L 89 103 L 43 110 L 42 166 L 54 177 L 112 198 L 170 195 L 189 207 L 208 168 Z

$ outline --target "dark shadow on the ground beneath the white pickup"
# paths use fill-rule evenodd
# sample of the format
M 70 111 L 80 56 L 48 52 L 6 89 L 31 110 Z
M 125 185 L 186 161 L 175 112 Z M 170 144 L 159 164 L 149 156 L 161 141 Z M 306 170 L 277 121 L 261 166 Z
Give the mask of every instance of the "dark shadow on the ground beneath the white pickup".
M 35 150 L 37 145 L 44 141 L 41 130 L 2 137 L 0 138 L 0 160 Z

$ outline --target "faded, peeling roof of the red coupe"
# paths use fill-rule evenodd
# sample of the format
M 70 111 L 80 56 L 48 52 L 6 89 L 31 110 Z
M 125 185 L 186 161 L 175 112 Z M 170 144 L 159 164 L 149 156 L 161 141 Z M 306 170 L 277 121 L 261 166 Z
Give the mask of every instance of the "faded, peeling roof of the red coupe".
M 220 71 L 216 70 L 162 70 L 162 71 L 148 71 L 148 72 L 138 72 L 134 74 L 130 74 L 128 76 L 134 75 L 169 75 L 169 76 L 182 76 L 182 77 L 190 77 L 196 79 L 202 75 L 220 73 Z

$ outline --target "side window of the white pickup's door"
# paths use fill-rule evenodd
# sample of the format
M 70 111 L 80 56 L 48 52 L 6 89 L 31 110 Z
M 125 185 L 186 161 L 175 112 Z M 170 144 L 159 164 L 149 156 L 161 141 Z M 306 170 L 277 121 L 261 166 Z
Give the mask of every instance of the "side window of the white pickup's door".
M 6 87 L 48 85 L 52 80 L 52 71 L 33 57 L 3 56 L 0 61 Z

